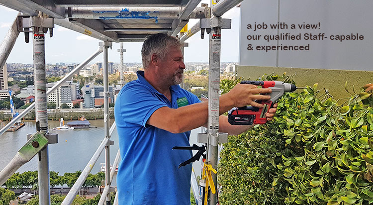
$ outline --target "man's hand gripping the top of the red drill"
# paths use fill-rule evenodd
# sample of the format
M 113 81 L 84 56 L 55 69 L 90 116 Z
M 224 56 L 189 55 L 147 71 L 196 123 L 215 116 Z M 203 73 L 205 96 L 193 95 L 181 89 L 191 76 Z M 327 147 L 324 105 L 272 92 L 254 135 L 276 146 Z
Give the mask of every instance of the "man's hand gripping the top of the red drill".
M 258 95 L 262 93 L 272 93 L 269 88 L 258 88 L 250 84 L 237 84 L 226 95 L 232 100 L 234 107 L 243 107 L 251 105 L 255 107 L 263 107 L 263 104 L 256 103 L 255 100 L 270 100 L 270 96 Z

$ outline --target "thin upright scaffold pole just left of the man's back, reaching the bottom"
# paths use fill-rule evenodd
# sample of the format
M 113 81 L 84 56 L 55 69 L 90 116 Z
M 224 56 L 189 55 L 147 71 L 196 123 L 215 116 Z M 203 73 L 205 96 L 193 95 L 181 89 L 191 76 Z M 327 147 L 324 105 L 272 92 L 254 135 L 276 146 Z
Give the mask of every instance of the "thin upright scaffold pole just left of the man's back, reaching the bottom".
M 107 48 L 111 47 L 112 42 L 103 42 L 103 93 L 104 93 L 104 130 L 105 137 L 110 139 L 110 121 L 109 121 L 109 81 L 108 81 L 108 58 Z M 105 147 L 105 186 L 110 186 L 110 141 Z M 110 192 L 106 197 L 106 205 L 110 205 Z

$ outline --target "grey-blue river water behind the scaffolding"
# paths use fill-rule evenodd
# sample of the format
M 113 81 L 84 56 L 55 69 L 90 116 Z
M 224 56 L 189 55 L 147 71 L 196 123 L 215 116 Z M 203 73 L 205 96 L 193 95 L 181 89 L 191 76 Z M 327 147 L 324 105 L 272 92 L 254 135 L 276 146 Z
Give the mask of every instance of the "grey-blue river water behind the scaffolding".
M 110 119 L 112 123 L 114 120 Z M 65 121 L 68 122 L 67 120 Z M 65 172 L 75 172 L 83 170 L 90 161 L 93 153 L 104 138 L 103 120 L 90 120 L 91 125 L 97 128 L 74 129 L 70 131 L 58 131 L 58 143 L 50 144 L 49 146 L 49 170 L 59 172 L 63 175 Z M 48 127 L 59 126 L 59 121 L 48 121 Z M 197 133 L 200 128 L 194 129 L 190 134 L 190 144 L 197 143 Z M 34 121 L 26 121 L 26 125 L 15 132 L 5 132 L 0 136 L 0 170 L 2 170 L 8 162 L 14 157 L 20 147 L 27 141 L 27 134 L 36 132 Z M 52 131 L 51 131 L 52 132 Z M 56 131 L 54 131 L 56 132 Z M 110 140 L 114 141 L 114 145 L 110 146 L 110 161 L 113 164 L 116 153 L 118 151 L 118 134 L 114 130 Z M 91 173 L 95 174 L 100 169 L 100 163 L 105 162 L 105 151 L 103 151 L 93 167 Z M 196 151 L 193 151 L 196 153 Z M 17 172 L 35 171 L 37 170 L 37 156 L 30 162 L 23 165 Z M 196 174 L 200 172 L 200 162 L 195 162 L 193 168 Z

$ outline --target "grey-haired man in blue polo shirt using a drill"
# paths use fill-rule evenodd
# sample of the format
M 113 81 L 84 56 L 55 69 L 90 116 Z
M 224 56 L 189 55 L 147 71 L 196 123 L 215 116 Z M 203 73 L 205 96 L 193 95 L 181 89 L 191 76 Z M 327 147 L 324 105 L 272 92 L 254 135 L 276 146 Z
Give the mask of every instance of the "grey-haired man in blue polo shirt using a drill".
M 169 35 L 148 36 L 141 50 L 144 70 L 127 83 L 115 103 L 115 121 L 122 161 L 117 175 L 120 205 L 190 205 L 191 165 L 178 169 L 189 159 L 190 130 L 206 125 L 208 103 L 181 89 L 182 43 Z M 254 100 L 269 100 L 270 89 L 239 84 L 220 97 L 219 112 L 245 106 L 262 107 Z M 276 107 L 277 105 L 275 105 Z M 276 112 L 267 114 L 271 120 Z M 251 126 L 232 126 L 219 117 L 219 131 L 239 134 Z

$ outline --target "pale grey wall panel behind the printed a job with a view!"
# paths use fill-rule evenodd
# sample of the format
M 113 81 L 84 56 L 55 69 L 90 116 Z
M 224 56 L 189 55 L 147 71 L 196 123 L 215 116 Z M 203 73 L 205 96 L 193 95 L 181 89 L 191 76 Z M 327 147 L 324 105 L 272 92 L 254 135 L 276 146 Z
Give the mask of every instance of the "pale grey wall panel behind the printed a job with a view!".
M 373 0 L 244 0 L 240 17 L 240 65 L 373 70 Z M 247 24 L 266 23 L 253 31 Z M 270 29 L 271 23 L 320 22 L 320 29 Z M 325 40 L 247 39 L 248 35 L 325 33 Z M 364 40 L 330 40 L 330 35 L 359 33 Z M 263 38 L 263 37 L 262 37 Z M 247 45 L 310 45 L 309 51 L 248 51 Z

